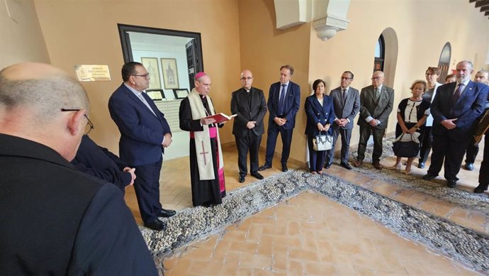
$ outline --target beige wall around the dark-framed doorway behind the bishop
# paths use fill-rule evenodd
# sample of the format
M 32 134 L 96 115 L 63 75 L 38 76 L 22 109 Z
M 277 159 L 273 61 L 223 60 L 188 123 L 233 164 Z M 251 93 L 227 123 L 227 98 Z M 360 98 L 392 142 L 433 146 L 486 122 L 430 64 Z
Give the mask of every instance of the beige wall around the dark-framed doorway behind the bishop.
M 119 132 L 107 102 L 120 85 L 123 55 L 117 23 L 201 33 L 204 68 L 213 78 L 210 96 L 218 112 L 229 114 L 230 92 L 240 74 L 237 1 L 232 0 L 35 0 L 51 62 L 74 76 L 77 64 L 108 65 L 111 82 L 84 82 L 96 129 L 90 136 L 118 153 Z M 221 132 L 234 140 L 232 126 Z

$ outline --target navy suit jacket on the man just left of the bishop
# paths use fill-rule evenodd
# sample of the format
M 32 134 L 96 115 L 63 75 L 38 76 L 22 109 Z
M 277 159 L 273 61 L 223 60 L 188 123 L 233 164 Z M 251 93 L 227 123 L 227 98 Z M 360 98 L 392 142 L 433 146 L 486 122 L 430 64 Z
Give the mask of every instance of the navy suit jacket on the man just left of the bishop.
M 131 166 L 161 160 L 163 136 L 171 133 L 164 114 L 146 93 L 142 95 L 156 116 L 124 84 L 108 99 L 108 111 L 120 131 L 120 158 Z

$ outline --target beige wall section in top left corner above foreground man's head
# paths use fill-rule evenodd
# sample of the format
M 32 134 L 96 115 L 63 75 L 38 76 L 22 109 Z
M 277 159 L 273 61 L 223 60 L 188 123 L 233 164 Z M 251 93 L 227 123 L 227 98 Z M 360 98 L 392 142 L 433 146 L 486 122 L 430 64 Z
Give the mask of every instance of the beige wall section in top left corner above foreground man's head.
M 50 62 L 38 16 L 30 0 L 0 1 L 0 69 L 18 62 Z

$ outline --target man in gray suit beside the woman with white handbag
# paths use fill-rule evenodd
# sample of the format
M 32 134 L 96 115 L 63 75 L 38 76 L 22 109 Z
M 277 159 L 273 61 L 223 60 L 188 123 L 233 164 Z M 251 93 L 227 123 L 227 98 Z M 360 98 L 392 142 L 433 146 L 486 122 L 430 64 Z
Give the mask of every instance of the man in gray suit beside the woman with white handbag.
M 333 155 L 335 155 L 335 145 L 338 135 L 342 135 L 342 153 L 339 165 L 352 170 L 352 166 L 348 163 L 350 138 L 352 138 L 353 119 L 360 110 L 360 94 L 359 91 L 350 87 L 353 82 L 353 73 L 345 71 L 341 77 L 339 87 L 331 90 L 330 97 L 335 105 L 335 123 L 333 123 L 333 148 L 328 150 L 325 162 L 325 168 L 331 166 Z

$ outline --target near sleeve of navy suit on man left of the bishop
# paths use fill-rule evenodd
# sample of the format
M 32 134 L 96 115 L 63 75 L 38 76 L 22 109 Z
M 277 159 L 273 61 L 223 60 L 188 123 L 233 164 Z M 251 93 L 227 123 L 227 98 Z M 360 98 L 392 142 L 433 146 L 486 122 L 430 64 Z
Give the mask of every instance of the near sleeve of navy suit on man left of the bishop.
M 132 99 L 111 97 L 111 100 L 108 102 L 111 117 L 117 124 L 120 132 L 133 140 L 161 145 L 164 133 L 155 132 L 151 128 L 142 125 L 140 123 L 140 114 L 137 114 L 135 107 L 129 101 L 132 101 Z M 148 114 L 147 116 L 152 115 Z M 157 118 L 154 118 L 154 120 L 157 120 Z M 164 122 L 166 123 L 166 120 Z M 169 129 L 168 124 L 166 124 L 164 130 L 169 133 Z

